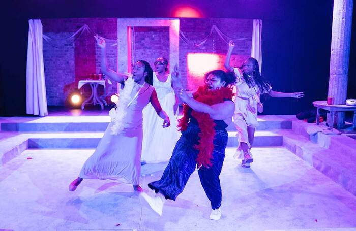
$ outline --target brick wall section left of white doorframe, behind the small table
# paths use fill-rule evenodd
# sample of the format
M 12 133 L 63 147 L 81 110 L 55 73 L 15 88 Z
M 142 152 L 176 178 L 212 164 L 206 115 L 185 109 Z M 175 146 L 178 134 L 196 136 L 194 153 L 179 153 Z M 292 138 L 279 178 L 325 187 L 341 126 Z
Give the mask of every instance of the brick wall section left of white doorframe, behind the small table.
M 100 49 L 94 35 L 99 34 L 107 40 L 108 64 L 116 70 L 117 47 L 116 18 L 69 18 L 41 19 L 43 34 L 53 39 L 52 45 L 43 42 L 45 81 L 48 105 L 64 105 L 65 100 L 78 86 L 78 81 L 87 79 L 89 74 L 100 73 Z M 81 26 L 88 25 L 90 31 L 84 31 L 71 40 L 64 40 L 73 35 Z M 103 92 L 99 86 L 99 91 Z M 106 93 L 117 91 L 116 84 L 106 84 Z M 83 87 L 83 95 L 90 93 L 88 86 Z

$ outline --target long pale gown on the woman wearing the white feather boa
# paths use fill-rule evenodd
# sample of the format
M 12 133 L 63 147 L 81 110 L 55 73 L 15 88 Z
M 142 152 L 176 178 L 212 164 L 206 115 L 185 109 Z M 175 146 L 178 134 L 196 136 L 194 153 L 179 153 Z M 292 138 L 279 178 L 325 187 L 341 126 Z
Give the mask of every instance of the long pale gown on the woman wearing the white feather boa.
M 124 129 L 112 135 L 109 123 L 97 149 L 84 163 L 79 177 L 83 179 L 112 179 L 138 185 L 141 171 L 142 110 L 150 102 L 154 88 L 145 83 L 143 87 L 135 83 L 131 92 L 136 100 L 127 108 Z M 156 115 L 157 116 L 157 115 Z M 158 116 L 157 116 L 158 117 Z

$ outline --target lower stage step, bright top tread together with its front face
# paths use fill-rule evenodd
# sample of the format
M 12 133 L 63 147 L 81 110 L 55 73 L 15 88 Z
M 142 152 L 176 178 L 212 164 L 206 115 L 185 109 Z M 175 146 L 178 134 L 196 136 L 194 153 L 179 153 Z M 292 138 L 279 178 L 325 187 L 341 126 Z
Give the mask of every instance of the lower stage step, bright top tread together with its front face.
M 227 147 L 237 147 L 236 132 L 229 131 Z M 104 133 L 38 133 L 28 138 L 28 148 L 96 148 Z M 255 147 L 282 146 L 283 137 L 273 131 L 256 131 Z

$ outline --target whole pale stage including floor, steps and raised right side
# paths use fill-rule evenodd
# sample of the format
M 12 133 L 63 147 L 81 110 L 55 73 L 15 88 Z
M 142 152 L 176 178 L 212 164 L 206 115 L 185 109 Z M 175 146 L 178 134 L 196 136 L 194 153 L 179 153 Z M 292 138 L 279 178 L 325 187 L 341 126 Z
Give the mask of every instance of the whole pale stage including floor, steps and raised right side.
M 260 116 L 251 169 L 232 158 L 221 173 L 222 218 L 197 172 L 159 217 L 142 207 L 132 186 L 78 175 L 103 135 L 107 111 L 56 111 L 46 117 L 0 118 L 0 230 L 356 230 L 356 140 L 322 133 L 325 125 L 293 115 Z M 166 162 L 142 166 L 141 186 Z

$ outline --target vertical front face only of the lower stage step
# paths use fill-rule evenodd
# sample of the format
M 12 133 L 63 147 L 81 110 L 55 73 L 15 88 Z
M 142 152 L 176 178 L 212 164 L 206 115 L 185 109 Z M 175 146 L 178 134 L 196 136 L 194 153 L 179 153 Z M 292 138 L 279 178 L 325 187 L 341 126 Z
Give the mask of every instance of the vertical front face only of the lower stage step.
M 98 146 L 100 138 L 29 138 L 28 148 L 93 148 Z M 237 147 L 238 139 L 229 137 L 227 147 Z M 256 136 L 254 147 L 275 147 L 283 145 L 282 136 Z

